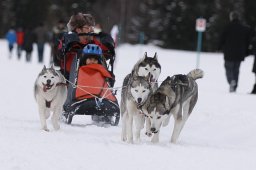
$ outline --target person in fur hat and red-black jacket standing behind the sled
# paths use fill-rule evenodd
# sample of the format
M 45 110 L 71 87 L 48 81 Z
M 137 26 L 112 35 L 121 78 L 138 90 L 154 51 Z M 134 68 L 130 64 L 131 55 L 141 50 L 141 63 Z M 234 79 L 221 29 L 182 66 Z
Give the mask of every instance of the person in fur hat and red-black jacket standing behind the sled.
M 113 74 L 113 63 L 115 57 L 115 44 L 112 37 L 107 34 L 100 32 L 98 34 L 94 33 L 95 21 L 91 14 L 77 13 L 70 17 L 70 20 L 67 24 L 69 33 L 63 35 L 63 39 L 68 39 L 67 37 L 76 37 L 77 43 L 73 43 L 74 49 L 83 49 L 87 44 L 96 44 L 102 49 L 103 57 L 107 61 L 109 60 L 111 66 L 111 75 L 114 78 Z M 77 38 L 78 37 L 78 38 Z M 59 50 L 63 51 L 62 42 L 59 44 Z M 62 56 L 61 56 L 62 55 Z M 66 79 L 69 79 L 69 72 L 73 58 L 76 53 L 69 50 L 65 54 L 57 56 L 60 62 L 61 72 L 64 74 Z M 63 56 L 64 55 L 64 56 Z M 55 64 L 56 65 L 56 64 Z M 114 79 L 111 82 L 111 86 L 114 85 Z

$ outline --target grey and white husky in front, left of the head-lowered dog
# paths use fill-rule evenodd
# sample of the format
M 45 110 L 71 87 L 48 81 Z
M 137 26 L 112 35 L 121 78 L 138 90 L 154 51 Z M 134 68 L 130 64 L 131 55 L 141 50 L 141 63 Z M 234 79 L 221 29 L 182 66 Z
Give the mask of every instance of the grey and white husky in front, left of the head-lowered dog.
M 133 143 L 133 118 L 135 121 L 135 139 L 140 141 L 140 131 L 144 128 L 145 116 L 141 112 L 143 105 L 152 94 L 149 76 L 132 75 L 126 78 L 121 93 L 122 141 Z

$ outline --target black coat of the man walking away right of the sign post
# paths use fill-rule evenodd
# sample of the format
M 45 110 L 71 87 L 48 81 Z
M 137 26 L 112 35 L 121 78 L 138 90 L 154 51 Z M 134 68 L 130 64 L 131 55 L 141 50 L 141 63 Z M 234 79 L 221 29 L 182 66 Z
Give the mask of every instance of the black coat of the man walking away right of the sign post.
M 243 61 L 247 56 L 251 38 L 248 26 L 241 24 L 239 20 L 233 20 L 225 28 L 220 41 L 220 49 L 223 50 L 224 60 Z

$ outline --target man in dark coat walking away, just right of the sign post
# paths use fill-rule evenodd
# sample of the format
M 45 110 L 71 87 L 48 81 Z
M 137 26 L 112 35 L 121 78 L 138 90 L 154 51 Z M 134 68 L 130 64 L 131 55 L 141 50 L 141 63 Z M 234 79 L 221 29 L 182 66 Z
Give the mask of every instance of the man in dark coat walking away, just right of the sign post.
M 230 23 L 226 26 L 219 45 L 224 53 L 224 66 L 229 83 L 229 92 L 235 92 L 237 89 L 239 68 L 247 55 L 250 32 L 250 28 L 240 21 L 239 14 L 231 12 Z

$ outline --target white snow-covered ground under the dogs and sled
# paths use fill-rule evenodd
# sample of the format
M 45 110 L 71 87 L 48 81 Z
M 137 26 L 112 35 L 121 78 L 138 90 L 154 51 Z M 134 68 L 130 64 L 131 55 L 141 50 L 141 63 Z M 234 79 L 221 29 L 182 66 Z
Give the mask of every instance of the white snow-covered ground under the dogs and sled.
M 61 124 L 50 132 L 40 129 L 33 86 L 43 68 L 18 61 L 16 51 L 8 57 L 5 40 L 0 40 L 0 162 L 3 170 L 254 170 L 256 168 L 256 95 L 248 94 L 255 81 L 253 57 L 240 68 L 237 93 L 230 94 L 221 53 L 201 53 L 205 77 L 197 80 L 199 100 L 177 144 L 169 143 L 173 121 L 163 128 L 159 144 L 142 133 L 141 143 L 121 141 L 121 123 L 103 128 L 91 125 L 89 116 L 75 116 L 73 124 Z M 36 49 L 36 47 L 34 48 Z M 186 74 L 196 65 L 196 53 L 164 50 L 155 46 L 122 45 L 117 48 L 116 87 L 147 51 L 158 54 L 162 65 L 159 81 L 173 74 Z M 49 46 L 45 64 L 49 66 Z M 120 101 L 120 91 L 117 93 Z

